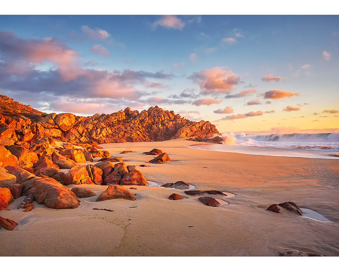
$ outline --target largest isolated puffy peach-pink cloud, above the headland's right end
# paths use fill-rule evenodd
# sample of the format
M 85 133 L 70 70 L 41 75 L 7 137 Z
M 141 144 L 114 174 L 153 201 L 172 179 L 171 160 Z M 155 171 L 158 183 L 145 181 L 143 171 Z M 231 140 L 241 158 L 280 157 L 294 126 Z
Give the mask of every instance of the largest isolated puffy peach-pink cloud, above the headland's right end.
M 211 93 L 229 94 L 240 81 L 240 77 L 234 75 L 232 70 L 225 71 L 221 67 L 194 72 L 188 79 L 198 82 L 204 95 Z

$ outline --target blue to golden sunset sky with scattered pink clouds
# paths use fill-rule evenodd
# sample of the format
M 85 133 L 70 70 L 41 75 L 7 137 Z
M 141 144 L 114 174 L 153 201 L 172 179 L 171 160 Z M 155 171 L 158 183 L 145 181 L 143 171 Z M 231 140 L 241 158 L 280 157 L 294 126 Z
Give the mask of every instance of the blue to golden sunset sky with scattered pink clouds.
M 46 113 L 158 105 L 220 132 L 339 128 L 339 15 L 0 15 L 0 93 Z

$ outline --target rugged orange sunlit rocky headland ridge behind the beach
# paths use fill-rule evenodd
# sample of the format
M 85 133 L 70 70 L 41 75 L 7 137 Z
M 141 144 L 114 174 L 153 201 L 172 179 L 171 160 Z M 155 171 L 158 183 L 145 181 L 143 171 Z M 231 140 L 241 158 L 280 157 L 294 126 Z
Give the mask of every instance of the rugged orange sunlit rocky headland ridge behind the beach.
M 47 115 L 4 95 L 0 96 L 0 105 L 0 139 L 6 137 L 15 142 L 27 133 L 72 144 L 164 141 L 219 135 L 215 125 L 208 121 L 190 121 L 158 106 L 140 113 L 127 107 L 112 114 L 77 117 L 72 113 Z

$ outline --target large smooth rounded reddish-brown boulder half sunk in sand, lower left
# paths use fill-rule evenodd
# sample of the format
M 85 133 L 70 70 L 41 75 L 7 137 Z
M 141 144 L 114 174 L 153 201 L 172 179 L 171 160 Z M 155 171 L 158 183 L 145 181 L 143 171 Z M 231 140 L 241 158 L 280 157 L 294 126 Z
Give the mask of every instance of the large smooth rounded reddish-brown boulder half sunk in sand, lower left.
M 29 189 L 23 195 L 33 194 L 34 200 L 39 204 L 54 209 L 74 209 L 80 205 L 77 196 L 71 190 L 52 178 L 35 177 L 27 182 L 29 184 L 26 189 Z

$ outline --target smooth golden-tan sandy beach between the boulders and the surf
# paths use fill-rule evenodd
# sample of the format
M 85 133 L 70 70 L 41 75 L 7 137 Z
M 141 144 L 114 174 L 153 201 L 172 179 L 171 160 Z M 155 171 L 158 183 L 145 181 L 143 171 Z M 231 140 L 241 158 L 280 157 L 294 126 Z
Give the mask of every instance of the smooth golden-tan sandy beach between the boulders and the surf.
M 18 222 L 13 231 L 0 230 L 1 257 L 278 257 L 284 249 L 339 257 L 339 160 L 272 157 L 185 147 L 184 139 L 164 142 L 102 144 L 112 157 L 136 165 L 158 186 L 133 186 L 137 201 L 95 202 L 107 186 L 80 185 L 95 192 L 80 199 L 76 209 L 39 205 L 24 213 L 24 197 L 0 216 Z M 171 162 L 146 164 L 159 148 Z M 119 154 L 131 150 L 133 153 Z M 95 158 L 92 164 L 99 158 Z M 67 170 L 63 170 L 67 171 Z M 159 187 L 184 181 L 195 189 L 216 189 L 222 204 L 209 207 L 198 196 Z M 69 185 L 68 188 L 75 187 Z M 127 188 L 131 186 L 126 186 Z M 178 193 L 184 200 L 171 201 Z M 234 195 L 234 196 L 233 196 Z M 292 201 L 331 222 L 298 216 L 274 203 Z M 130 208 L 135 207 L 135 208 Z M 114 210 L 93 210 L 106 208 Z

